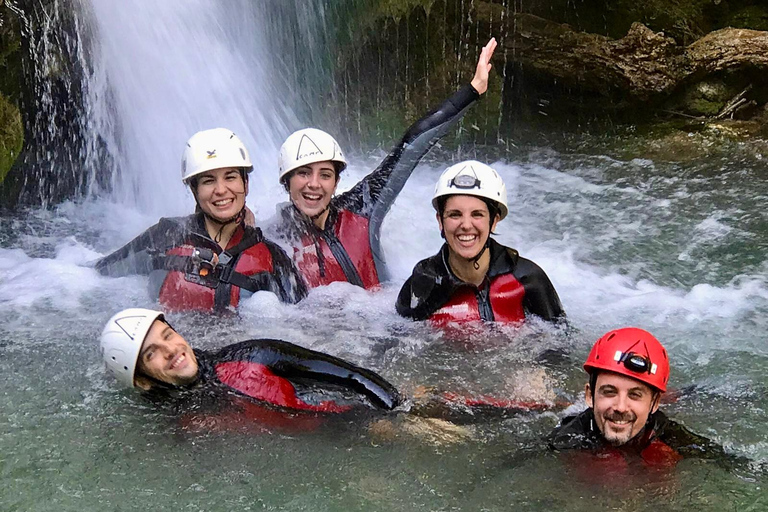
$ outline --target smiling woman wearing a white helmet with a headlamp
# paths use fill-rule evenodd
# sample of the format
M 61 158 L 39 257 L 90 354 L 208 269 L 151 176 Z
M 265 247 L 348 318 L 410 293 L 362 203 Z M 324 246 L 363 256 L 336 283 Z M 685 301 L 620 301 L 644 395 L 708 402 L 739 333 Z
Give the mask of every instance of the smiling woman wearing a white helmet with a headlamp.
M 507 188 L 495 170 L 474 160 L 449 167 L 432 206 L 445 243 L 416 264 L 397 297 L 398 313 L 438 326 L 565 317 L 544 271 L 490 237 L 508 213 Z

